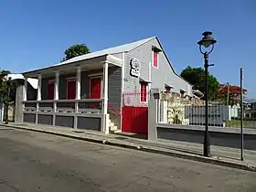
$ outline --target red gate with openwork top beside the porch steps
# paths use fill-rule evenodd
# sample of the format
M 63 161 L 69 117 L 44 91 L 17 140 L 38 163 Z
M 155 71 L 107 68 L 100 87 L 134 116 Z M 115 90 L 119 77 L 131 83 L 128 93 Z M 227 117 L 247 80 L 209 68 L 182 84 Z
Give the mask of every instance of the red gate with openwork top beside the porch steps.
M 129 133 L 147 133 L 147 127 L 147 102 L 140 101 L 140 93 L 123 94 L 122 131 Z

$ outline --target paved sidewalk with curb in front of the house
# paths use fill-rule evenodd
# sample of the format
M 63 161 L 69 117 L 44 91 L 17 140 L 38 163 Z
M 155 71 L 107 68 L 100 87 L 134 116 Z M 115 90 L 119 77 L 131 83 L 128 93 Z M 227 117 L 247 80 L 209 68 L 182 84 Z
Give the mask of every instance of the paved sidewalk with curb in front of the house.
M 89 130 L 71 129 L 57 126 L 53 127 L 29 123 L 9 123 L 8 125 L 2 124 L 2 126 L 40 133 L 51 133 L 98 144 L 114 145 L 148 153 L 176 156 L 179 158 L 185 158 L 214 165 L 225 165 L 233 168 L 256 172 L 256 151 L 244 150 L 245 160 L 240 161 L 240 149 L 211 146 L 212 157 L 208 158 L 202 156 L 202 144 L 165 140 L 149 142 L 146 139 L 134 138 L 132 137 L 132 134 L 129 133 L 103 134 Z

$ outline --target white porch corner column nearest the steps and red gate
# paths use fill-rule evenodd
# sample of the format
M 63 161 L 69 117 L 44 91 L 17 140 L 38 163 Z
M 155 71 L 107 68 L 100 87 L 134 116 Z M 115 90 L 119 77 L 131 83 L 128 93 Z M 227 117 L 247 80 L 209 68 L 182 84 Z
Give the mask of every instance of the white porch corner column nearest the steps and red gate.
M 104 102 L 103 102 L 103 132 L 109 133 L 109 114 L 108 114 L 108 91 L 109 91 L 109 63 L 105 62 L 103 68 L 103 88 L 104 88 Z

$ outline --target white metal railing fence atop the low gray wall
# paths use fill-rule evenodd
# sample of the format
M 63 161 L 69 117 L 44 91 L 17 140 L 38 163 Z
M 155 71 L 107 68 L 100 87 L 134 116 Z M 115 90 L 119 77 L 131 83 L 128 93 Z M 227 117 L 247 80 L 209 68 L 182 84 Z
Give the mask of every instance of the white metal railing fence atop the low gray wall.
M 243 127 L 256 128 L 256 102 L 243 104 Z M 162 95 L 158 105 L 158 123 L 205 125 L 205 101 Z M 240 127 L 239 101 L 209 101 L 208 125 L 213 127 Z

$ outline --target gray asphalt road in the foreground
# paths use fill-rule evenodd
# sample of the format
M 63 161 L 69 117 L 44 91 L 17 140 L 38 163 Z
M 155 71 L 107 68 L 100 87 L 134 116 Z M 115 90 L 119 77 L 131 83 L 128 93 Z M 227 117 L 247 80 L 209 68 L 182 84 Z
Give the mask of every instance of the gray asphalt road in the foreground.
M 0 192 L 256 191 L 228 167 L 0 127 Z

